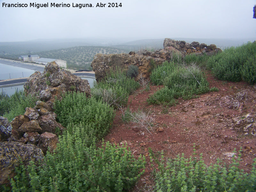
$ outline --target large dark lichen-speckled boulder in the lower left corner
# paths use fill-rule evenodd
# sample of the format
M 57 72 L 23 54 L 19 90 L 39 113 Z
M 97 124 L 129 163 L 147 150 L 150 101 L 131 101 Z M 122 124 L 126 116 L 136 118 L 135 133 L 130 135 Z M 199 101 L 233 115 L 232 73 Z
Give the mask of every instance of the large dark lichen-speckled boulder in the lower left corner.
M 15 176 L 14 170 L 22 163 L 37 162 L 44 158 L 43 151 L 31 144 L 0 142 L 0 185 L 8 184 Z M 20 162 L 21 160 L 21 162 Z

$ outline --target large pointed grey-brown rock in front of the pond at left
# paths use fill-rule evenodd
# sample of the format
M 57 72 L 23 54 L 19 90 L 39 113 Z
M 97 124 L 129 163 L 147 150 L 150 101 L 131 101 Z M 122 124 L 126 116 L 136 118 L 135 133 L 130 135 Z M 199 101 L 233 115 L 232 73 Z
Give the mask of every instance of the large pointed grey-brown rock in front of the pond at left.
M 49 62 L 45 66 L 43 73 L 36 72 L 32 74 L 24 85 L 24 92 L 32 95 L 36 95 L 37 92 L 40 92 L 39 97 L 46 101 L 50 98 L 50 94 L 52 94 L 52 92 L 50 90 L 50 92 L 48 92 L 47 89 L 59 86 L 61 87 L 57 92 L 64 89 L 64 92 L 85 92 L 87 97 L 91 94 L 90 85 L 86 79 L 81 79 L 67 70 L 60 69 L 55 61 Z

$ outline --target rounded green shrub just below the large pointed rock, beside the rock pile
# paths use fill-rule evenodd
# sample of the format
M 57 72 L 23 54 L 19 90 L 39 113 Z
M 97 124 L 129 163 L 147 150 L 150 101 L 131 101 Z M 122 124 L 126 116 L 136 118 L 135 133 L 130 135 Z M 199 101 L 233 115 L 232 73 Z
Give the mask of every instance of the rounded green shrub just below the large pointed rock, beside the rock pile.
M 85 93 L 79 92 L 70 92 L 63 100 L 55 100 L 55 113 L 63 126 L 87 126 L 86 134 L 97 139 L 106 135 L 114 119 L 114 109 L 108 104 L 86 98 Z

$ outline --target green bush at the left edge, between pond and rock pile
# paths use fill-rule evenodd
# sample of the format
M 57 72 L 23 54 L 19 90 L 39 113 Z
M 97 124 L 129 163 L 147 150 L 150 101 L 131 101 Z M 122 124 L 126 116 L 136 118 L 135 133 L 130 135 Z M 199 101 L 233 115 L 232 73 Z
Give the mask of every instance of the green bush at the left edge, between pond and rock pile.
M 0 99 L 0 115 L 7 117 L 9 121 L 18 115 L 23 115 L 27 107 L 35 107 L 37 101 L 36 97 L 26 96 L 21 90 L 16 90 L 10 97 L 2 92 Z

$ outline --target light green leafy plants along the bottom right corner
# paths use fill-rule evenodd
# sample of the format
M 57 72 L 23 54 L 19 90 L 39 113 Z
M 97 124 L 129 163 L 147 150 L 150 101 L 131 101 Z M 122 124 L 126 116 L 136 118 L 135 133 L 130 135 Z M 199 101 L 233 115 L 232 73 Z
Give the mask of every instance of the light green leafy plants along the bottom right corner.
M 229 166 L 218 159 L 209 167 L 204 164 L 202 155 L 200 160 L 196 157 L 186 159 L 184 154 L 178 155 L 175 159 L 165 161 L 162 155 L 159 162 L 156 157 L 159 171 L 155 173 L 155 191 L 157 192 L 180 192 L 180 191 L 237 191 L 254 192 L 256 190 L 256 159 L 252 164 L 250 173 L 238 168 L 241 154 L 237 160 Z M 166 165 L 165 165 L 166 163 Z

